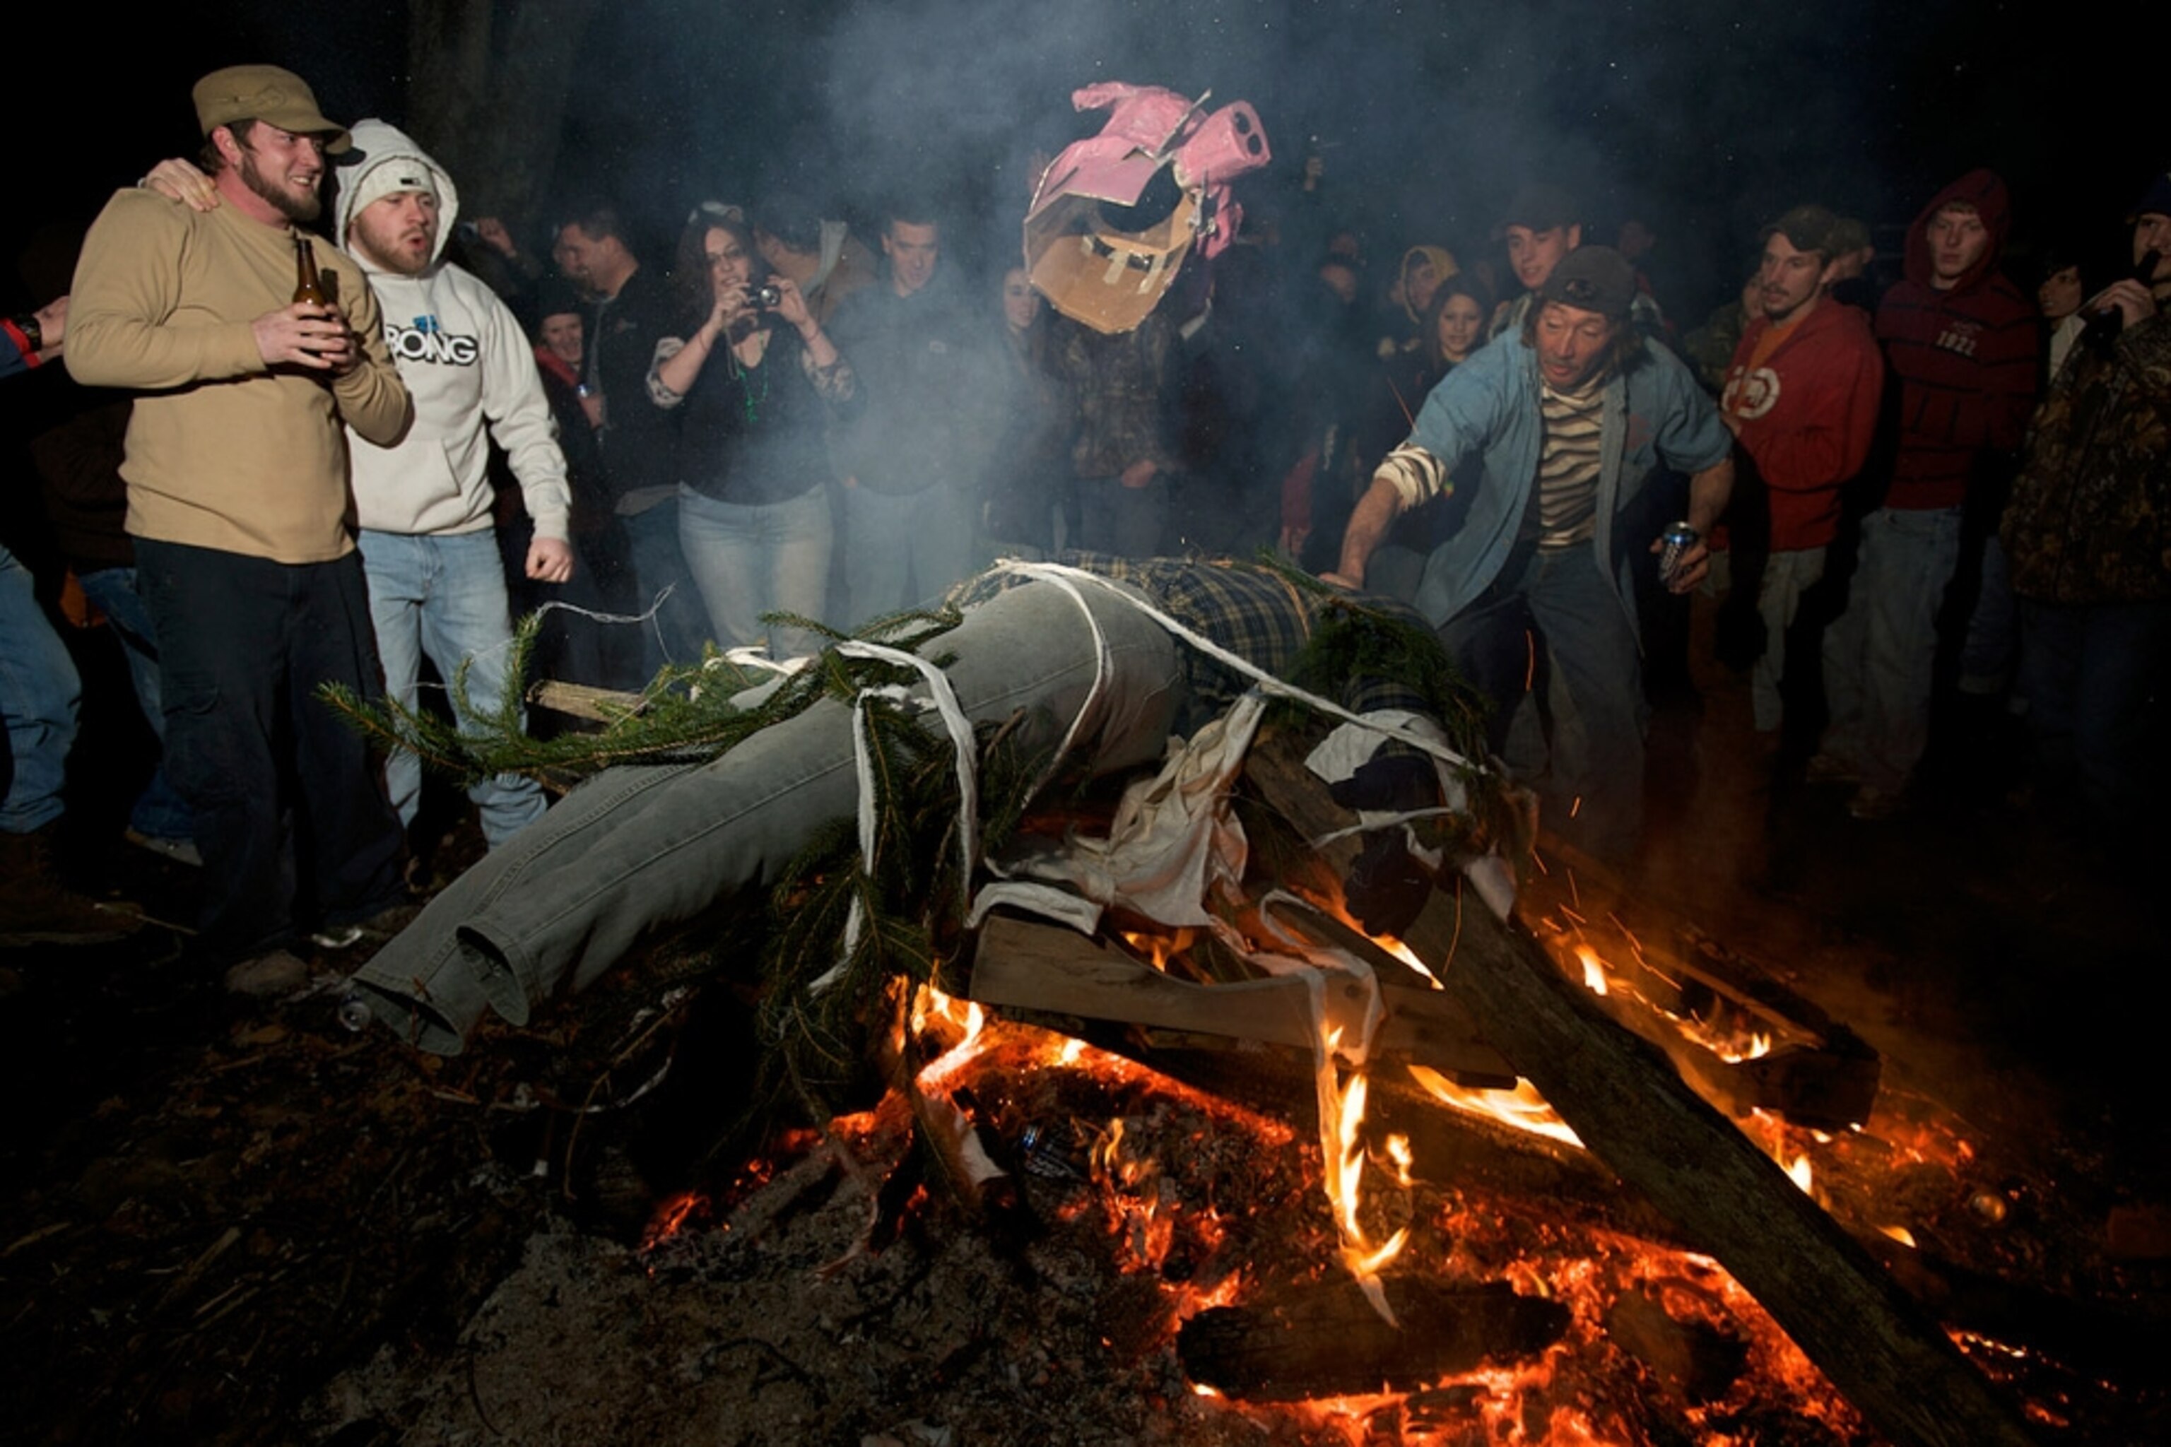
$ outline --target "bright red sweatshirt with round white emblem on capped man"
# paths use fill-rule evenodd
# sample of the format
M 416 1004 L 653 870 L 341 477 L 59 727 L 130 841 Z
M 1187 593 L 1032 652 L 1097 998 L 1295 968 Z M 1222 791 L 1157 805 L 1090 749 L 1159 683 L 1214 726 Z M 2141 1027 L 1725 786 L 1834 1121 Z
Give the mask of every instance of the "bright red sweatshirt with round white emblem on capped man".
M 1824 547 L 1839 534 L 1839 488 L 1863 471 L 1878 434 L 1884 356 L 1861 310 L 1821 297 L 1772 354 L 1750 321 L 1735 347 L 1719 410 L 1741 419 L 1741 453 L 1765 482 L 1772 551 Z

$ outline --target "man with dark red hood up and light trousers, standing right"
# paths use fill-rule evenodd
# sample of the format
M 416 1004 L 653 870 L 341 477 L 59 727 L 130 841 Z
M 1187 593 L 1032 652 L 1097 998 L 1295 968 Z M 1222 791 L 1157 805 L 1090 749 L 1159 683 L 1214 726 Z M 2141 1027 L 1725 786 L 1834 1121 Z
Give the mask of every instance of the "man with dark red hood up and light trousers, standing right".
M 1848 811 L 1900 805 L 1930 735 L 1937 610 L 1960 560 L 1971 479 L 2021 443 L 2036 388 L 2034 308 L 1997 271 L 2010 202 L 1993 171 L 1939 191 L 1908 228 L 1906 280 L 1878 304 L 1900 382 L 1889 486 L 1863 518 L 1848 610 L 1824 636 L 1832 720 L 1813 781 L 1858 783 Z

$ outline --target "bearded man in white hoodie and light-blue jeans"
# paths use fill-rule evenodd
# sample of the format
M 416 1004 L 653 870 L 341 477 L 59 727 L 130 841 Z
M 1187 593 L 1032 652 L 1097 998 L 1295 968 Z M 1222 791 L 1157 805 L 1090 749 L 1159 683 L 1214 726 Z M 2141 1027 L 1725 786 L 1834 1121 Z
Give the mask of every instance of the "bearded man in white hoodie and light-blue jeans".
M 391 447 L 352 430 L 347 438 L 384 692 L 415 707 L 428 653 L 447 681 L 467 664 L 467 696 L 495 709 L 512 627 L 491 516 L 488 440 L 497 438 L 521 484 L 534 521 L 528 577 L 545 584 L 573 575 L 564 453 L 519 321 L 475 276 L 441 260 L 460 213 L 452 178 L 384 121 L 356 121 L 352 135 L 332 180 L 332 232 L 367 273 L 384 345 L 415 397 L 415 423 Z M 217 206 L 208 178 L 185 161 L 161 163 L 150 187 L 195 210 Z M 454 690 L 454 712 L 469 727 L 458 703 Z M 397 753 L 384 777 L 399 822 L 412 824 L 421 761 Z M 532 779 L 512 774 L 469 796 L 491 848 L 547 805 Z

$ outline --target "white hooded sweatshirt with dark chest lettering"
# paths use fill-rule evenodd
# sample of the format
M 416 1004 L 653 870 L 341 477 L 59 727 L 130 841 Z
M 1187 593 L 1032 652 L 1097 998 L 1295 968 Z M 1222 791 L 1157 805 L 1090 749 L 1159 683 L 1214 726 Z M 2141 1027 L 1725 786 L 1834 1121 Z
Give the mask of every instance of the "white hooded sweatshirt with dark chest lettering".
M 345 247 L 369 273 L 384 312 L 384 345 L 415 397 L 415 425 L 393 447 L 352 432 L 354 505 L 360 525 L 393 534 L 469 534 L 491 527 L 488 438 L 506 449 L 538 538 L 567 538 L 573 492 L 536 373 L 534 347 L 506 304 L 473 273 L 443 260 L 460 219 L 460 193 L 430 156 L 384 121 L 354 124 L 356 165 L 334 169 L 334 236 L 345 247 L 363 178 L 380 165 L 421 167 L 439 197 L 436 249 L 421 276 L 384 271 Z M 484 427 L 488 434 L 484 434 Z

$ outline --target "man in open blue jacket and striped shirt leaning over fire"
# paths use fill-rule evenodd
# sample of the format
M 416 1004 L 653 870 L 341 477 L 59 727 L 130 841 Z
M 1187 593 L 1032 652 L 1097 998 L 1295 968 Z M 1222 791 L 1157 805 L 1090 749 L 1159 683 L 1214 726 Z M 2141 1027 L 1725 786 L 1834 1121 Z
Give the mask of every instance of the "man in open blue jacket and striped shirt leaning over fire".
M 1580 247 L 1546 278 L 1520 332 L 1448 373 L 1409 440 L 1381 462 L 1357 503 L 1329 581 L 1361 588 L 1396 516 L 1452 490 L 1478 460 L 1463 521 L 1424 564 L 1415 605 L 1465 675 L 1494 701 L 1505 738 L 1535 629 L 1572 701 L 1552 738 L 1541 798 L 1554 827 L 1602 859 L 1628 859 L 1643 829 L 1643 686 L 1626 536 L 1661 462 L 1689 479 L 1689 527 L 1669 588 L 1706 568 L 1704 536 L 1732 488 L 1732 438 L 1696 377 L 1646 347 L 1628 321 L 1635 269 Z

